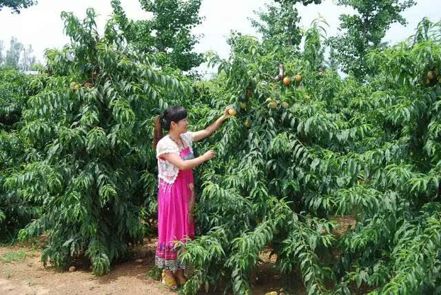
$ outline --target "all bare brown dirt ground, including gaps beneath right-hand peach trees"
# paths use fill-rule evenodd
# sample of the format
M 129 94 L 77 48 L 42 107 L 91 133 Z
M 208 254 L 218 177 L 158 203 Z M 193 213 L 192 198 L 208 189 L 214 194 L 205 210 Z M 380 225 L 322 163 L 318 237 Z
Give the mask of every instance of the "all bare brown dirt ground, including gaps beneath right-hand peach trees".
M 342 232 L 348 225 L 354 225 L 353 218 L 340 221 Z M 62 272 L 56 267 L 43 267 L 41 263 L 41 245 L 44 238 L 33 243 L 18 243 L 13 246 L 0 247 L 0 258 L 3 254 L 25 253 L 22 260 L 8 263 L 0 260 L 0 294 L 8 295 L 44 295 L 44 294 L 176 294 L 147 275 L 154 266 L 156 240 L 145 238 L 144 245 L 134 248 L 132 260 L 112 265 L 109 275 L 94 276 L 84 263 L 74 263 L 74 272 Z M 24 253 L 23 253 L 24 252 Z M 290 294 L 305 294 L 300 277 L 283 278 L 273 269 L 275 258 L 263 253 L 264 263 L 259 266 L 259 275 L 253 287 L 253 294 L 263 295 L 267 292 L 280 292 L 287 285 Z M 283 291 L 283 290 L 282 290 Z M 202 294 L 202 293 L 201 293 Z M 218 292 L 210 293 L 218 294 Z

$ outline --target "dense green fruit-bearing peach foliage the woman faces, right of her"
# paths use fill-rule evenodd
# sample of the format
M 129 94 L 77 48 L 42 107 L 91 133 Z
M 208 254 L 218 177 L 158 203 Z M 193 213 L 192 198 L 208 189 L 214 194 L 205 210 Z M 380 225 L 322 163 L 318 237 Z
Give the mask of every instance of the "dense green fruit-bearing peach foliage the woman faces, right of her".
M 198 172 L 198 223 L 208 232 L 184 247 L 183 260 L 196 265 L 185 292 L 208 282 L 249 293 L 268 246 L 280 272 L 299 272 L 309 294 L 361 285 L 373 294 L 438 292 L 440 43 L 371 52 L 378 74 L 361 84 L 318 72 L 318 27 L 305 35 L 302 59 L 260 54 L 265 43 L 250 37 L 232 42 L 229 61 L 212 57 L 220 74 L 203 84 L 205 96 L 247 105 L 207 143 L 219 154 Z M 272 81 L 279 62 L 302 81 Z M 352 214 L 356 228 L 336 238 L 335 214 Z

